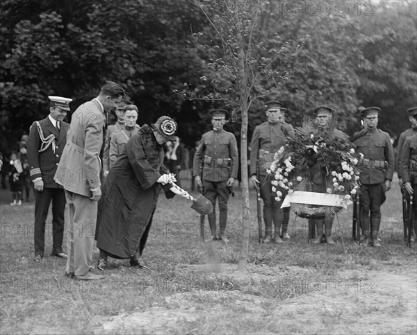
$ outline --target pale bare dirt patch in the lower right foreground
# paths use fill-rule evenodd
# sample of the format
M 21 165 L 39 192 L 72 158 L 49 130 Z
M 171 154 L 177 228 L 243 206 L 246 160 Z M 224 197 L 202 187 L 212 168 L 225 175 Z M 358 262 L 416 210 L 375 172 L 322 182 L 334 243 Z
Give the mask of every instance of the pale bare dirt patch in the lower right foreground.
M 96 334 L 417 331 L 415 271 L 389 273 L 363 268 L 329 277 L 297 266 L 247 266 L 239 271 L 236 265 L 221 264 L 221 273 L 209 273 L 206 266 L 184 264 L 177 270 L 205 273 L 208 279 L 218 280 L 219 286 L 213 291 L 195 287 L 190 292 L 173 293 L 165 297 L 163 306 L 101 319 Z M 260 283 L 265 284 L 265 291 L 256 295 L 250 288 Z M 247 319 L 256 326 L 245 327 Z

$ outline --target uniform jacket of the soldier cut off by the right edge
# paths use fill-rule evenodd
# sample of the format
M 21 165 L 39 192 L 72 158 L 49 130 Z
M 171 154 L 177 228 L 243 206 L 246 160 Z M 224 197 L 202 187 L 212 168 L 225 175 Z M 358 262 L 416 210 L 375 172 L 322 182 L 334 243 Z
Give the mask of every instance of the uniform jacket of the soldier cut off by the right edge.
M 407 137 L 402 147 L 400 157 L 400 173 L 402 182 L 411 182 L 417 184 L 417 133 Z

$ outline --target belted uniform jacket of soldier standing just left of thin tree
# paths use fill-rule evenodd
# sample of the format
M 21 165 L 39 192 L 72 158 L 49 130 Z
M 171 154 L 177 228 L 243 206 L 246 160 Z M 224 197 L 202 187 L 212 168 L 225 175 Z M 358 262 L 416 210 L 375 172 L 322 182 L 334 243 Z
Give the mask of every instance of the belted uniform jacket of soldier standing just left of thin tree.
M 200 175 L 208 182 L 222 182 L 230 177 L 238 178 L 238 144 L 236 137 L 224 130 L 206 132 L 194 155 L 193 175 Z

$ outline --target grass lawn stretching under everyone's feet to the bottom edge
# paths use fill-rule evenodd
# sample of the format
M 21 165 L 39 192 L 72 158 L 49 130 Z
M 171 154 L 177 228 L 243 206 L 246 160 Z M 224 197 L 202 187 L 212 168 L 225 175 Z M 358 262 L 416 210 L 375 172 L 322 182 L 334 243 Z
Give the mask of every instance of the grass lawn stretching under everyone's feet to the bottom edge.
M 98 282 L 65 277 L 65 260 L 49 256 L 50 217 L 46 257 L 34 263 L 34 203 L 11 207 L 1 190 L 0 334 L 416 334 L 416 244 L 402 241 L 397 180 L 382 207 L 378 249 L 351 241 L 352 207 L 335 218 L 336 246 L 309 244 L 306 220 L 294 214 L 289 241 L 260 244 L 252 189 L 244 270 L 235 189 L 229 243 L 203 243 L 190 202 L 161 194 L 142 256 L 150 270 L 109 259 Z M 95 264 L 97 257 L 96 249 Z

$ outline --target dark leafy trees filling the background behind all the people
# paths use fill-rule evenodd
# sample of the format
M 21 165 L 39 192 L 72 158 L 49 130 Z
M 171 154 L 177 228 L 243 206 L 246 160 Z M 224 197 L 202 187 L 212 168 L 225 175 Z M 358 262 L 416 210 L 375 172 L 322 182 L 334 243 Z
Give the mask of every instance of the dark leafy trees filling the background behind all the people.
M 74 110 L 105 79 L 124 85 L 140 108 L 140 123 L 167 113 L 177 119 L 188 145 L 206 126 L 206 110 L 220 101 L 183 101 L 172 94 L 183 83 L 208 98 L 225 92 L 231 101 L 245 80 L 254 92 L 249 99 L 274 90 L 296 126 L 322 103 L 338 110 L 341 129 L 349 133 L 359 103 L 381 107 L 379 126 L 391 135 L 409 126 L 405 110 L 417 100 L 415 1 L 372 2 L 373 15 L 311 15 L 293 9 L 302 1 L 246 1 L 240 21 L 236 15 L 244 2 L 230 2 L 231 24 L 218 32 L 230 28 L 236 34 L 221 40 L 208 18 L 219 23 L 214 13 L 227 12 L 222 1 L 201 1 L 208 17 L 188 0 L 1 1 L 0 150 L 9 152 L 47 114 L 47 95 L 73 98 Z M 260 12 L 254 10 L 258 4 Z M 240 48 L 249 41 L 253 48 Z M 224 55 L 239 65 L 242 53 L 248 56 L 247 78 L 222 63 Z M 262 67 L 277 76 L 256 84 L 252 71 Z M 238 120 L 240 109 L 231 101 Z M 265 115 L 261 102 L 248 105 L 250 135 Z M 231 128 L 237 134 L 240 121 Z

